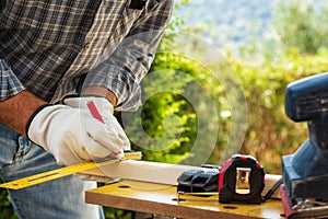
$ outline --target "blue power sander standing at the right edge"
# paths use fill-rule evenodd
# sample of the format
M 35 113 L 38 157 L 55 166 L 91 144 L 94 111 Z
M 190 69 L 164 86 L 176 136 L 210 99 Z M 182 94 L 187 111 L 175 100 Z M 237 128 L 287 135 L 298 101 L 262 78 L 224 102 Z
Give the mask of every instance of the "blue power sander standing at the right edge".
M 280 193 L 286 217 L 328 218 L 328 72 L 290 83 L 285 113 L 307 122 L 308 138 L 282 157 Z

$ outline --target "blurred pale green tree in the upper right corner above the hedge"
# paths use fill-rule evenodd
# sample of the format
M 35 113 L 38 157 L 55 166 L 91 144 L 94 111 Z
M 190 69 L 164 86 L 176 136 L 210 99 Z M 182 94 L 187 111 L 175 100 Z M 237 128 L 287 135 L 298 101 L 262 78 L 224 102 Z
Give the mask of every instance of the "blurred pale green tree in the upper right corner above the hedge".
M 279 0 L 274 26 L 282 47 L 316 54 L 328 46 L 328 3 L 323 0 Z

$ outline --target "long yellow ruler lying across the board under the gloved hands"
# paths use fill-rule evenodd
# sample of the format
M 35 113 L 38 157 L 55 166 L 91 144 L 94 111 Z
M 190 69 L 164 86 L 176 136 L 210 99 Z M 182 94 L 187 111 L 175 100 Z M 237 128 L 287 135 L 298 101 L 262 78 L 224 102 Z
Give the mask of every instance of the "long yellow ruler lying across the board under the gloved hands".
M 126 152 L 125 158 L 122 160 L 140 160 L 140 159 L 141 159 L 141 152 Z M 61 168 L 61 169 L 48 171 L 45 173 L 39 173 L 36 175 L 27 176 L 24 178 L 11 181 L 8 183 L 3 183 L 3 184 L 0 184 L 0 187 L 10 188 L 10 189 L 21 189 L 21 188 L 25 188 L 25 187 L 28 187 L 32 185 L 36 185 L 36 184 L 45 183 L 45 182 L 52 181 L 56 178 L 60 178 L 60 177 L 63 177 L 67 175 L 71 175 L 74 173 L 92 170 L 92 169 L 108 165 L 112 163 L 116 163 L 119 161 L 120 160 L 115 159 L 115 160 L 109 160 L 109 161 L 105 161 L 105 162 L 101 162 L 101 163 L 94 163 L 94 162 L 78 163 L 74 165 L 69 165 L 66 168 Z

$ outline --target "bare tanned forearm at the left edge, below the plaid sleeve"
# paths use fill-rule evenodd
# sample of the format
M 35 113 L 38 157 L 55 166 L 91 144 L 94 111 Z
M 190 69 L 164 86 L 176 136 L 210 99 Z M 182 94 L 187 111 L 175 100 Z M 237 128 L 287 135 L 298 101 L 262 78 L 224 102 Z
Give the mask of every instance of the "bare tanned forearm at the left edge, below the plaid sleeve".
M 28 91 L 23 91 L 0 102 L 0 123 L 25 136 L 28 118 L 44 104 L 46 104 L 45 101 Z

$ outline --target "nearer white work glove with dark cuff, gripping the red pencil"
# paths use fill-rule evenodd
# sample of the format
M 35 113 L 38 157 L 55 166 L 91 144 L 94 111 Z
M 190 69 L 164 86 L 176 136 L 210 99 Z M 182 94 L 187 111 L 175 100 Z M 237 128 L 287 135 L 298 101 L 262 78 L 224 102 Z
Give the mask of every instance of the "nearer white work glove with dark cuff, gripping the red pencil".
M 27 137 L 52 153 L 59 164 L 124 157 L 121 134 L 95 119 L 86 108 L 45 105 L 31 116 L 26 130 Z

